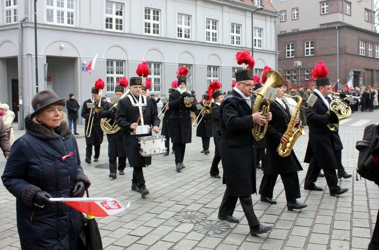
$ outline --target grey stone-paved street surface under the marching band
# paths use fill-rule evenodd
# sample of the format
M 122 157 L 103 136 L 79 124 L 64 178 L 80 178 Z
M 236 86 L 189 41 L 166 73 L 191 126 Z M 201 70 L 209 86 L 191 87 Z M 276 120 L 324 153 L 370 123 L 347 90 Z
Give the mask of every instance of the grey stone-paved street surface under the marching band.
M 201 138 L 195 137 L 194 132 L 193 143 L 187 144 L 186 148 L 186 168 L 180 173 L 175 171 L 173 154 L 153 156 L 153 164 L 144 169 L 150 195 L 141 198 L 138 193 L 130 190 L 130 168 L 126 169 L 125 175 L 118 175 L 116 179 L 108 177 L 106 139 L 98 164 L 93 161 L 92 164 L 84 162 L 84 126 L 79 126 L 78 132 L 81 135 L 77 141 L 82 167 L 92 182 L 90 195 L 109 196 L 117 198 L 123 204 L 129 201 L 131 203 L 130 208 L 122 213 L 97 218 L 104 248 L 367 249 L 376 221 L 379 189 L 373 182 L 355 179 L 358 159 L 355 142 L 361 140 L 364 126 L 372 121 L 363 123 L 360 127 L 349 124 L 368 116 L 366 113 L 355 113 L 350 117 L 353 119 L 340 128 L 345 147 L 343 164 L 354 177 L 340 180 L 339 185 L 349 188 L 349 192 L 341 197 L 330 196 L 324 178 L 317 181 L 324 192 L 304 190 L 303 182 L 308 166 L 302 163 L 304 170 L 299 172 L 302 198 L 299 202 L 306 203 L 308 207 L 297 212 L 288 211 L 283 184 L 278 178 L 274 190 L 274 199 L 278 202 L 276 205 L 261 202 L 259 195 L 252 196 L 260 222 L 273 226 L 271 232 L 259 236 L 249 234 L 249 226 L 239 203 L 233 216 L 239 218 L 240 223 L 232 224 L 217 218 L 225 185 L 222 184 L 222 179 L 211 178 L 209 175 L 214 153 L 213 143 L 211 154 L 200 153 Z M 308 142 L 307 127 L 305 132 L 306 136 L 299 138 L 294 147 L 300 161 L 304 159 Z M 16 130 L 16 138 L 23 133 L 24 131 Z M 1 173 L 5 162 L 4 157 L 1 157 Z M 222 176 L 221 164 L 219 168 Z M 262 175 L 262 171 L 257 170 L 257 188 Z M 3 185 L 0 186 L 0 197 L 0 248 L 20 249 L 15 198 Z

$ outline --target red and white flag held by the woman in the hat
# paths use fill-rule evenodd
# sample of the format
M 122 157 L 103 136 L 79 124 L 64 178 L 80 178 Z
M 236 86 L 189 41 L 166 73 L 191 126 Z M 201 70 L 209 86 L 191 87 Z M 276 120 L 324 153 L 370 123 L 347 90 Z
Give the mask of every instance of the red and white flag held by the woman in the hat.
M 63 202 L 79 212 L 96 217 L 115 215 L 130 206 L 130 202 L 125 207 L 116 199 L 109 197 L 50 198 L 50 201 Z

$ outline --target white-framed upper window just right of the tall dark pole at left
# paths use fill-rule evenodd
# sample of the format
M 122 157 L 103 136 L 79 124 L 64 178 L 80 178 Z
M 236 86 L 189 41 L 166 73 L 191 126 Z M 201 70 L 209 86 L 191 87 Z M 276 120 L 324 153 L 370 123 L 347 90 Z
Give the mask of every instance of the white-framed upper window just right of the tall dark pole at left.
M 46 23 L 74 25 L 74 0 L 46 0 Z

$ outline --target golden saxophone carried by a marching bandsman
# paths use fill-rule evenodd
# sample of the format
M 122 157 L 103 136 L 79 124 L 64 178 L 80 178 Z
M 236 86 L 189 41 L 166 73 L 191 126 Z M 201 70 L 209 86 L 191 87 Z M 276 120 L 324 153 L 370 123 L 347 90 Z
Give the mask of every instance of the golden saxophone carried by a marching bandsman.
M 294 128 L 296 126 L 295 119 L 297 118 L 300 108 L 301 108 L 301 103 L 303 98 L 300 95 L 295 95 L 295 96 L 290 96 L 288 94 L 285 94 L 286 96 L 289 96 L 291 98 L 298 98 L 298 104 L 296 105 L 295 112 L 291 117 L 290 123 L 288 124 L 287 130 L 285 132 L 285 136 L 287 137 L 287 141 L 285 143 L 280 143 L 279 146 L 276 149 L 276 152 L 281 156 L 281 157 L 287 157 L 291 154 L 292 148 L 295 145 L 296 140 L 301 136 L 305 136 L 304 130 L 302 127 L 299 126 L 298 129 L 294 131 Z

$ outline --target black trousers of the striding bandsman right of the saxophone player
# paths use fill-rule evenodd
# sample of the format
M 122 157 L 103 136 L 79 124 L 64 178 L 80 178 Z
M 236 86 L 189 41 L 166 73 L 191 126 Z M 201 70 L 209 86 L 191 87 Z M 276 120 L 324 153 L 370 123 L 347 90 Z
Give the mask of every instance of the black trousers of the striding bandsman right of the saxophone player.
M 307 174 L 305 175 L 305 181 L 304 186 L 312 187 L 314 185 L 314 182 L 317 181 L 318 173 L 320 172 L 321 168 L 317 165 L 316 158 L 314 155 L 312 156 Z M 327 186 L 329 187 L 330 193 L 337 193 L 340 191 L 340 187 L 338 186 L 338 178 L 336 169 L 322 169 L 325 174 L 325 179 Z

